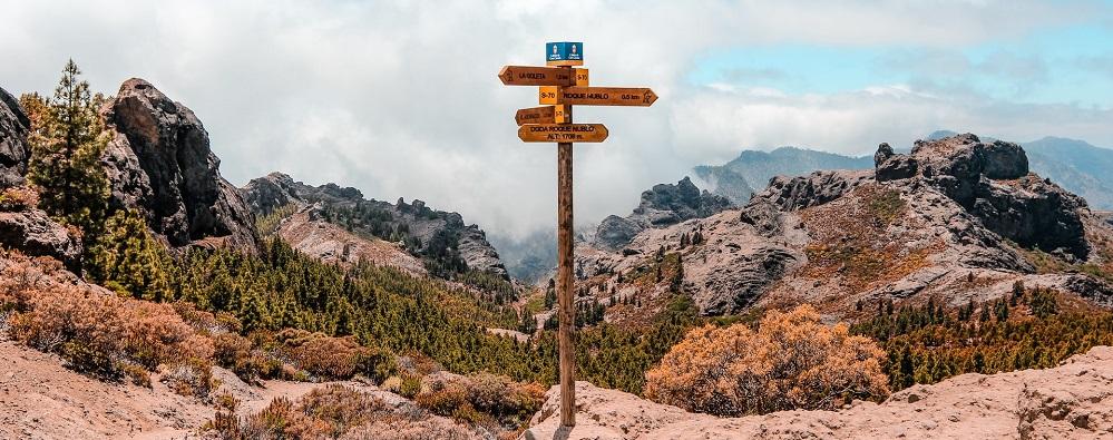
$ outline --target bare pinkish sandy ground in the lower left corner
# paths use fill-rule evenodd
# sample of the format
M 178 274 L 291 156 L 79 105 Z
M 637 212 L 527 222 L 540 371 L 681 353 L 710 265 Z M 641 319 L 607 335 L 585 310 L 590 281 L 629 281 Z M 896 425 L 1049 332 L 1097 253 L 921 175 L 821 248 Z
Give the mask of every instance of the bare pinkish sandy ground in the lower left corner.
M 241 399 L 241 413 L 272 399 L 294 400 L 322 383 L 267 381 L 252 387 L 214 368 L 221 389 Z M 357 382 L 333 382 L 384 398 L 402 399 Z M 402 399 L 404 400 L 404 399 Z M 53 354 L 0 341 L 0 439 L 196 439 L 213 407 L 177 395 L 152 378 L 152 388 L 107 383 L 62 366 Z

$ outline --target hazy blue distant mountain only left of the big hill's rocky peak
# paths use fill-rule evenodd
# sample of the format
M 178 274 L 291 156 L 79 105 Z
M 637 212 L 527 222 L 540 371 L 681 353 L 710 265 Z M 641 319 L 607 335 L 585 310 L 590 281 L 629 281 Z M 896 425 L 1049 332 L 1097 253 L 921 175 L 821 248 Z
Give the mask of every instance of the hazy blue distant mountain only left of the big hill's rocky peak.
M 742 206 L 750 195 L 761 190 L 775 176 L 801 176 L 819 169 L 865 169 L 872 164 L 869 157 L 848 157 L 832 153 L 795 147 L 781 147 L 772 151 L 745 150 L 738 158 L 723 165 L 701 165 L 695 175 L 707 182 L 713 194 L 729 198 Z

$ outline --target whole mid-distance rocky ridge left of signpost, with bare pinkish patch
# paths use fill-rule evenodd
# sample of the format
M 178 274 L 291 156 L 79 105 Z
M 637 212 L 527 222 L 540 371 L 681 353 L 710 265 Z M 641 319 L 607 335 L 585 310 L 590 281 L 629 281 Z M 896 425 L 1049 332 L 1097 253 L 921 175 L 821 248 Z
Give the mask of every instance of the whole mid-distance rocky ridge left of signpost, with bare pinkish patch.
M 323 221 L 342 225 L 363 236 L 401 242 L 406 246 L 404 250 L 426 258 L 427 262 L 432 262 L 435 266 L 449 265 L 456 271 L 470 268 L 507 276 L 498 252 L 487 242 L 486 234 L 479 226 L 467 225 L 460 214 L 435 211 L 421 201 L 406 203 L 399 198 L 397 203 L 389 203 L 365 199 L 359 189 L 352 187 L 340 187 L 331 183 L 314 187 L 294 182 L 282 173 L 272 173 L 252 179 L 241 190 L 247 206 L 260 216 L 272 215 L 284 207 L 293 207 L 290 213 L 280 213 L 294 222 L 283 221 L 280 233 L 289 234 L 290 231 L 297 228 L 295 225 L 299 223 Z M 293 212 L 305 215 L 293 216 L 291 215 Z M 345 246 L 344 243 L 349 245 Z M 323 236 L 314 239 L 301 237 L 294 244 L 297 248 L 319 256 L 323 256 L 320 255 L 322 248 L 351 250 L 350 242 L 336 242 L 334 238 Z M 355 254 L 348 255 L 353 257 Z M 399 261 L 396 257 L 391 258 Z M 463 263 L 462 267 L 452 264 L 457 260 Z M 404 265 L 410 266 L 411 262 L 407 261 Z

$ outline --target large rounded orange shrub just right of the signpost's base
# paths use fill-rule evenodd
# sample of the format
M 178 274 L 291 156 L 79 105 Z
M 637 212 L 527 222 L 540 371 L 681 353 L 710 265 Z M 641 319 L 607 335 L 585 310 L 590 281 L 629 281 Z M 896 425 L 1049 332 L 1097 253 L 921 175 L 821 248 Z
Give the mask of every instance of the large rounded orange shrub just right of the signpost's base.
M 833 409 L 889 394 L 885 352 L 811 306 L 746 324 L 694 329 L 646 375 L 647 398 L 716 415 Z

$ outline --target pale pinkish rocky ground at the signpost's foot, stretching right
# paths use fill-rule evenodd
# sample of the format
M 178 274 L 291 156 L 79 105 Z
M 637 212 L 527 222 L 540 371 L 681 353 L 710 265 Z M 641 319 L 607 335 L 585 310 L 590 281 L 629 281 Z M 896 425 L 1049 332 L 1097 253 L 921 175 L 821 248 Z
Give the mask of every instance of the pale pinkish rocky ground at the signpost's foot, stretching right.
M 560 431 L 557 388 L 546 395 L 521 439 L 1113 438 L 1113 348 L 1048 370 L 964 374 L 839 411 L 715 418 L 578 382 L 576 427 Z

